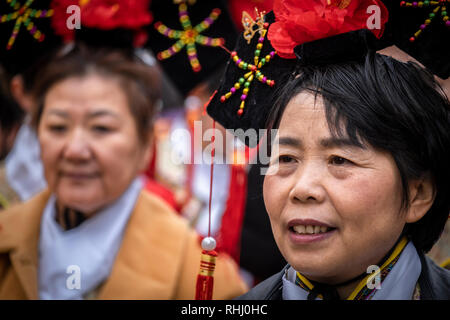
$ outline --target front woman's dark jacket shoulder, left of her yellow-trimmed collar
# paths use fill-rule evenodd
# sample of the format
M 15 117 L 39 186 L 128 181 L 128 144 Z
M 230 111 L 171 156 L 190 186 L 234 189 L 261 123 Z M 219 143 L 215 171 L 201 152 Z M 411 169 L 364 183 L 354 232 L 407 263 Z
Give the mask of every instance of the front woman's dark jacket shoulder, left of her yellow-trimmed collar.
M 284 267 L 283 270 L 259 283 L 236 300 L 280 300 L 283 284 L 281 279 L 288 267 Z

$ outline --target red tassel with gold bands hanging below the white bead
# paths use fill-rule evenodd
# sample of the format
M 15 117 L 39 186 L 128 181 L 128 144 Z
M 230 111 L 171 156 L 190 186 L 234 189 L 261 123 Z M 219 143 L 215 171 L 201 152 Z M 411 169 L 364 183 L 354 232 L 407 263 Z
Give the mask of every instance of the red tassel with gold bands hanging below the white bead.
M 217 253 L 215 251 L 202 251 L 200 271 L 195 288 L 195 300 L 212 300 L 216 258 Z

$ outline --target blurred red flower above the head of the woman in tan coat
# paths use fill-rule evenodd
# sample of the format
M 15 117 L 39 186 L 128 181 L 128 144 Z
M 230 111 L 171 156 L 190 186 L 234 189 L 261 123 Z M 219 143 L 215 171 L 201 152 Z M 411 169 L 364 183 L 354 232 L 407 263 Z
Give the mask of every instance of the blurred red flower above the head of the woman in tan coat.
M 73 39 L 73 30 L 67 27 L 67 20 L 73 14 L 67 12 L 71 5 L 81 9 L 81 27 L 138 30 L 153 19 L 149 11 L 150 0 L 54 0 L 51 4 L 54 10 L 52 26 L 66 41 Z

